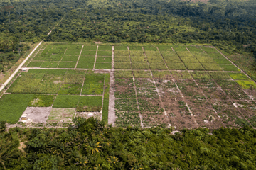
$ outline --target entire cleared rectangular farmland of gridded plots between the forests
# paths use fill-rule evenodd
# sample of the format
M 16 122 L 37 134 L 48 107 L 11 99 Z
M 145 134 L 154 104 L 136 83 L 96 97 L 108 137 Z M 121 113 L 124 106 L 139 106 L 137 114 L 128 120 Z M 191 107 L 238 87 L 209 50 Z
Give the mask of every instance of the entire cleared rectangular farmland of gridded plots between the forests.
M 44 44 L 23 67 L 28 72 L 0 98 L 0 118 L 9 123 L 45 107 L 44 125 L 114 115 L 121 127 L 256 126 L 255 81 L 213 47 Z

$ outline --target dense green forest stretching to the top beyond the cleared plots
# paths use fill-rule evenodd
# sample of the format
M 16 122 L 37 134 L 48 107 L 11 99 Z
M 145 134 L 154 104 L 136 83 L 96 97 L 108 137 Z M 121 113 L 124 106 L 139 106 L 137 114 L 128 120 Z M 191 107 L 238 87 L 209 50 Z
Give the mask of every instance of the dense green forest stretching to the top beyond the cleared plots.
M 256 2 L 210 0 L 2 1 L 0 69 L 28 50 L 26 43 L 209 43 L 225 52 L 255 52 Z M 60 19 L 63 21 L 46 35 Z

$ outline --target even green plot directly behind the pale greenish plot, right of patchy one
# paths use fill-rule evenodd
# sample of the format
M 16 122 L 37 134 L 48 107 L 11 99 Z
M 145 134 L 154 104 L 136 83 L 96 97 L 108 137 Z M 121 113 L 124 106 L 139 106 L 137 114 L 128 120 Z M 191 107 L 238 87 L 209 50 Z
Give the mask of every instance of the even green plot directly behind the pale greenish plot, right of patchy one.
M 53 108 L 76 108 L 79 98 L 76 95 L 58 95 L 53 102 Z

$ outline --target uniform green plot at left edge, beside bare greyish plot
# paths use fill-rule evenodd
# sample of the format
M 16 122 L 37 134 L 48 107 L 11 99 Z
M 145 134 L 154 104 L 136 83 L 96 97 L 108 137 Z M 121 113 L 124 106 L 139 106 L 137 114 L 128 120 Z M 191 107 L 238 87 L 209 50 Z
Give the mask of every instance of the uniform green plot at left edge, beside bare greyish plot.
M 4 94 L 0 98 L 0 121 L 17 123 L 32 98 L 31 94 Z

